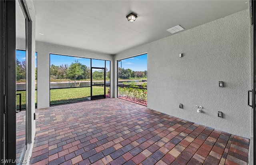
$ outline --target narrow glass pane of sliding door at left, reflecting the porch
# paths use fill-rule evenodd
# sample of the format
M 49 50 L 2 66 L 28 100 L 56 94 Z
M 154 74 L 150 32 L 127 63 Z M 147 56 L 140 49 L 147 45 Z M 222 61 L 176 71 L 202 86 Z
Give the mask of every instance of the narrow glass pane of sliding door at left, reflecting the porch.
M 23 93 L 16 92 L 16 102 L 21 105 L 21 95 L 23 95 L 23 102 L 26 103 L 26 59 L 27 59 L 27 45 L 26 45 L 26 27 L 27 27 L 27 16 L 23 3 L 16 0 L 16 48 L 25 50 L 16 52 L 16 78 L 20 78 L 22 84 L 24 84 L 25 91 Z M 23 56 L 23 61 L 19 61 L 18 57 Z M 26 106 L 26 105 L 25 105 Z M 16 107 L 16 159 L 22 160 L 26 153 L 27 140 L 26 140 L 26 111 L 21 111 L 21 107 Z M 26 109 L 26 107 L 24 107 Z M 19 164 L 19 163 L 18 163 Z

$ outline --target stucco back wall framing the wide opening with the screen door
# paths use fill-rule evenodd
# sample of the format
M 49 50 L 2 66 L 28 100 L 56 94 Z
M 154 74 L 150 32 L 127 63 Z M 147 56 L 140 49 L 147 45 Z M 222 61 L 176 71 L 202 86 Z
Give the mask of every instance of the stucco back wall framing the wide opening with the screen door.
M 89 52 L 86 50 L 70 48 L 66 46 L 48 44 L 44 42 L 36 42 L 37 52 L 37 107 L 46 108 L 50 106 L 50 53 L 62 54 L 68 56 L 94 58 L 100 60 L 110 60 L 110 72 L 113 72 L 113 56 L 108 54 L 101 54 L 96 52 Z M 114 79 L 111 75 L 111 84 Z M 113 87 L 111 87 L 111 90 Z M 110 91 L 113 93 L 113 91 Z

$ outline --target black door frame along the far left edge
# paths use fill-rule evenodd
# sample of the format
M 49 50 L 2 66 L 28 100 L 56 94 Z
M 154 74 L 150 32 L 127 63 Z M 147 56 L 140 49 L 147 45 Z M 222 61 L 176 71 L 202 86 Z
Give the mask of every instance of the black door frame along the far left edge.
M 16 22 L 15 1 L 0 2 L 1 160 L 16 159 Z M 3 143 L 2 143 L 3 141 Z M 2 162 L 1 162 L 2 163 Z M 6 164 L 11 164 L 8 162 Z

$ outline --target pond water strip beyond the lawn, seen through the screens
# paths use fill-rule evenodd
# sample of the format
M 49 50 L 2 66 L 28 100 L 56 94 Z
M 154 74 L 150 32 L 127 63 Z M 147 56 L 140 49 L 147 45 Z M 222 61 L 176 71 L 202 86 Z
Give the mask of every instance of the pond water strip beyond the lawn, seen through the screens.
M 134 80 L 134 81 L 118 81 L 118 83 L 124 83 L 124 82 L 139 82 L 140 80 Z M 103 81 L 102 81 L 103 82 Z M 76 82 L 76 83 L 79 83 Z M 101 83 L 100 81 L 97 81 L 95 83 Z M 108 85 L 110 82 L 106 81 L 106 85 Z M 73 86 L 74 83 L 71 83 L 71 85 Z M 91 82 L 80 82 L 80 87 L 88 87 L 91 85 Z M 65 82 L 65 83 L 50 83 L 50 89 L 52 88 L 63 88 L 63 87 L 70 87 L 70 83 L 69 82 Z M 37 86 L 36 86 L 37 88 Z M 16 84 L 16 90 L 26 90 L 26 84 L 25 83 L 19 83 Z

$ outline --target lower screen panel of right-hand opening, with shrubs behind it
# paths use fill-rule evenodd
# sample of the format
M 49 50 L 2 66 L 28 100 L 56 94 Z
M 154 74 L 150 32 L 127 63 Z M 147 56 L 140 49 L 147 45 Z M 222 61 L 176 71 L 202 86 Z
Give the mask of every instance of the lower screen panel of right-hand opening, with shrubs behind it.
M 147 106 L 147 88 L 118 85 L 118 98 Z

